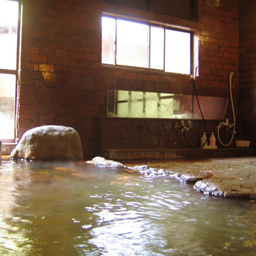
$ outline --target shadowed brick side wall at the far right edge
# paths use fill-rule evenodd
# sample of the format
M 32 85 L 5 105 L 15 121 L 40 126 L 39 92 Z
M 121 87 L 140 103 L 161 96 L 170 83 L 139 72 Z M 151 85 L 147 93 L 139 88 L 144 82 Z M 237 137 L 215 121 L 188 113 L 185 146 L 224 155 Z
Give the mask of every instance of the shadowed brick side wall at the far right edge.
M 244 139 L 256 144 L 256 2 L 239 1 L 240 22 L 240 119 L 244 123 Z

